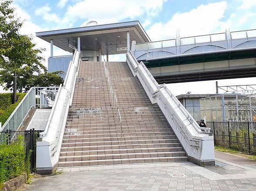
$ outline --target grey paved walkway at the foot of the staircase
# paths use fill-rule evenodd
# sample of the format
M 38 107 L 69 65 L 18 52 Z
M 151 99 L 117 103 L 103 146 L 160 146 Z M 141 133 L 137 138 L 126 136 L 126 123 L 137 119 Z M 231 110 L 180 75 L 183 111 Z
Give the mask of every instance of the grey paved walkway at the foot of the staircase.
M 63 168 L 27 191 L 256 191 L 256 161 L 216 152 L 217 165 L 190 162 Z

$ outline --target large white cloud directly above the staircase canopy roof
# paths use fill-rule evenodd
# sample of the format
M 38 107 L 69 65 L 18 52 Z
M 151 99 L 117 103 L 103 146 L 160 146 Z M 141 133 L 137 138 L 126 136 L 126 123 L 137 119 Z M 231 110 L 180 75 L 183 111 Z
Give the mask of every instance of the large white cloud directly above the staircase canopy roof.
M 99 24 L 118 20 L 134 19 L 147 14 L 155 16 L 162 9 L 164 0 L 83 0 L 68 6 L 65 23 L 74 23 L 75 18 L 96 20 Z

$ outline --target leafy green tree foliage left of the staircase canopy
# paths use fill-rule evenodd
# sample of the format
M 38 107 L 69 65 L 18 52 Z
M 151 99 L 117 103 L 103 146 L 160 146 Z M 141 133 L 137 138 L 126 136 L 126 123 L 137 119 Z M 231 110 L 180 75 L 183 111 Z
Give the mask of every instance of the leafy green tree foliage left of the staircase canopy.
M 19 33 L 22 22 L 14 17 L 12 0 L 0 0 L 0 85 L 13 90 L 17 76 L 17 91 L 28 91 L 32 86 L 58 86 L 63 79 L 48 73 L 40 56 L 44 49 L 36 48 L 32 38 Z

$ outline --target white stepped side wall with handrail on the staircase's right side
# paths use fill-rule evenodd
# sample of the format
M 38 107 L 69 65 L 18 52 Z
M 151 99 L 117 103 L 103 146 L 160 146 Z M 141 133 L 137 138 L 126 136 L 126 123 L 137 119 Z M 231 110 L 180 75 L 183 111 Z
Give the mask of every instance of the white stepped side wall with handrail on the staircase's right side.
M 126 61 L 133 76 L 140 80 L 152 104 L 157 103 L 164 113 L 188 156 L 200 164 L 214 161 L 213 136 L 210 128 L 199 127 L 176 96 L 165 84 L 159 85 L 143 62 L 137 62 L 131 51 L 126 54 Z

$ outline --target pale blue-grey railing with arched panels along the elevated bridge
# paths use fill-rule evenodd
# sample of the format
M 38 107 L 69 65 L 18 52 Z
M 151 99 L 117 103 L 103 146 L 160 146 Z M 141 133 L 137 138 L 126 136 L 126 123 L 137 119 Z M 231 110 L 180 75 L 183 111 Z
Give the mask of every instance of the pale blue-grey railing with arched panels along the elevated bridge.
M 243 30 L 189 36 L 171 40 L 135 44 L 135 56 L 143 59 L 173 57 L 195 53 L 212 53 L 256 46 L 256 30 Z

